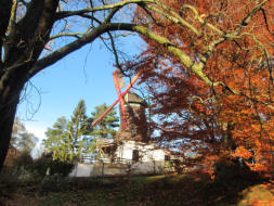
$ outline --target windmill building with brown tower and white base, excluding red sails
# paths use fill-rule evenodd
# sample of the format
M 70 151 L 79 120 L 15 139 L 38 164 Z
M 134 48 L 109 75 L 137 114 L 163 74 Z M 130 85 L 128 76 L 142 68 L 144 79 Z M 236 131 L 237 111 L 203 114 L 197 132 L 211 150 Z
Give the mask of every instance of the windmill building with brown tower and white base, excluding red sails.
M 125 114 L 122 115 L 120 107 L 120 128 L 114 137 L 114 143 L 102 145 L 110 159 L 119 163 L 170 159 L 168 151 L 157 149 L 149 141 L 145 107 L 146 103 L 136 93 L 129 92 L 125 95 Z

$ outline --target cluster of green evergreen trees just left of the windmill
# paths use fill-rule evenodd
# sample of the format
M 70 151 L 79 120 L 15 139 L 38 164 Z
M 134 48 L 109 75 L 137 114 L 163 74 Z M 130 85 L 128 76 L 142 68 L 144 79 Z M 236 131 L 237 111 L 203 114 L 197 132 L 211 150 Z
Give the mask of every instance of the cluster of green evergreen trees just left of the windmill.
M 94 153 L 97 139 L 110 139 L 118 127 L 118 117 L 112 110 L 94 128 L 90 128 L 91 121 L 96 119 L 107 105 L 95 106 L 92 117 L 86 115 L 84 101 L 80 100 L 76 106 L 70 120 L 61 117 L 52 128 L 48 128 L 43 142 L 44 147 L 53 154 L 54 159 L 62 162 L 74 162 L 80 158 L 81 154 Z

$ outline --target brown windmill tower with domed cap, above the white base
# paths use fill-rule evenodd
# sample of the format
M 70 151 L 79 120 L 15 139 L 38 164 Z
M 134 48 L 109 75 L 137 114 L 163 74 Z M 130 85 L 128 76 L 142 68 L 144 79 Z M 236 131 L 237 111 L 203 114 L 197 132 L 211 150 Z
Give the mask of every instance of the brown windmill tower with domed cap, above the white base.
M 125 95 L 125 119 L 127 123 L 127 128 L 125 128 L 125 124 L 122 121 L 122 112 L 120 106 L 120 127 L 115 138 L 116 141 L 149 141 L 145 108 L 146 103 L 136 93 L 128 92 Z

